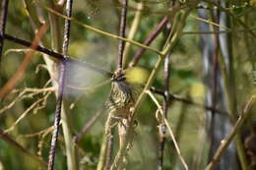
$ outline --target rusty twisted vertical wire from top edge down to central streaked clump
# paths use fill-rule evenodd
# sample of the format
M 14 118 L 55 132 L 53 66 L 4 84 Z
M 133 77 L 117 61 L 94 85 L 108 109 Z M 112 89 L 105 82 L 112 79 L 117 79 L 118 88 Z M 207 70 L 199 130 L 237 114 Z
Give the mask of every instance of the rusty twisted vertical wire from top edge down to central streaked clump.
M 127 15 L 127 5 L 128 0 L 122 0 L 123 1 L 123 7 L 121 12 L 121 21 L 120 21 L 120 29 L 119 29 L 119 36 L 125 37 L 125 28 L 126 28 L 126 15 Z M 124 51 L 124 40 L 119 40 L 118 44 L 118 57 L 117 57 L 117 70 L 122 71 L 123 70 L 123 51 Z

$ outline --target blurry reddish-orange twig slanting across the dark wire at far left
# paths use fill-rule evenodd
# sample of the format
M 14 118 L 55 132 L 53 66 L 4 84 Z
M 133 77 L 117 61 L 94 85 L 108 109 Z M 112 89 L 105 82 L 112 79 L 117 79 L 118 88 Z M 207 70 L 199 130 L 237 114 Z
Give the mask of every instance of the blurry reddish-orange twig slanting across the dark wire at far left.
M 44 35 L 44 33 L 46 32 L 46 30 L 47 30 L 46 24 L 42 25 L 42 27 L 39 28 L 39 30 L 37 31 L 37 33 L 34 36 L 34 39 L 32 40 L 32 45 L 30 46 L 32 49 L 35 49 L 38 46 L 39 41 L 42 38 L 42 36 Z M 20 67 L 17 70 L 17 72 L 15 73 L 15 75 L 12 77 L 12 79 L 10 81 L 8 81 L 8 83 L 6 83 L 0 89 L 0 98 L 3 98 L 10 90 L 12 90 L 14 88 L 15 85 L 17 85 L 17 83 L 19 81 L 21 81 L 23 79 L 24 74 L 31 62 L 33 52 L 34 52 L 34 50 L 29 51 L 26 54 L 26 56 L 23 60 L 23 63 L 20 65 Z

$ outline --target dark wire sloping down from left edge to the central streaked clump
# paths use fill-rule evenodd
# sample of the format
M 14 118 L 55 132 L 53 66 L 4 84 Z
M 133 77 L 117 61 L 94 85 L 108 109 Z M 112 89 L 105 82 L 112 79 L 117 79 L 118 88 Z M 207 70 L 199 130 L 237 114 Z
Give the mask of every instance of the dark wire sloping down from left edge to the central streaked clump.
M 27 47 L 32 46 L 31 42 L 23 40 L 23 39 L 19 39 L 17 37 L 9 35 L 9 34 L 4 34 L 4 39 L 10 40 L 12 42 L 15 42 L 15 43 L 27 46 Z M 49 56 L 51 56 L 55 59 L 58 59 L 58 60 L 63 60 L 64 59 L 64 56 L 62 54 L 54 52 L 53 50 L 44 48 L 44 47 L 39 46 L 39 45 L 34 50 L 37 50 L 37 51 L 42 52 L 44 54 L 47 54 L 47 55 L 49 55 Z M 74 59 L 74 58 L 75 57 L 67 57 L 67 62 L 71 63 L 71 64 L 75 64 L 75 65 L 80 66 L 80 67 L 85 67 L 85 68 L 88 68 L 90 70 L 96 71 L 96 73 L 102 74 L 102 75 L 104 75 L 106 77 L 109 77 L 109 78 L 112 77 L 112 75 L 113 75 L 111 72 L 99 69 L 99 68 L 97 68 L 96 66 L 94 66 L 92 64 L 86 63 L 84 61 L 79 61 L 79 60 Z

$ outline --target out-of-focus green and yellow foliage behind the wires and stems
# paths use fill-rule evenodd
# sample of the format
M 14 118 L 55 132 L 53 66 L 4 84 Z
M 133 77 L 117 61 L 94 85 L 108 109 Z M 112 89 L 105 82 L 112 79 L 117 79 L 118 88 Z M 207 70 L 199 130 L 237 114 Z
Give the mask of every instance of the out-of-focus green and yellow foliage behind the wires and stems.
M 112 1 L 110 0 L 97 0 L 94 2 L 90 0 L 74 1 L 72 16 L 84 24 L 117 34 L 119 19 L 117 14 L 120 12 L 120 6 L 115 6 L 111 2 Z M 128 9 L 127 33 L 129 33 L 130 25 L 134 20 L 136 2 L 138 1 L 131 2 L 131 6 Z M 6 33 L 32 41 L 34 29 L 31 23 L 30 14 L 26 12 L 25 6 L 20 0 L 12 0 L 9 3 Z M 138 30 L 136 30 L 136 41 L 143 42 L 149 36 L 152 29 L 160 23 L 161 18 L 165 14 L 169 14 L 166 4 L 167 1 L 159 4 L 154 4 L 152 1 L 147 1 L 145 3 L 141 24 Z M 34 4 L 32 5 L 34 7 Z M 250 5 L 255 7 L 256 1 L 250 0 Z M 37 6 L 37 8 L 43 14 L 45 22 L 49 23 L 48 12 L 40 5 Z M 254 28 L 253 32 L 255 33 L 256 24 L 254 19 L 256 13 L 253 10 L 250 10 L 247 13 L 247 8 L 251 7 L 244 6 L 243 8 L 232 9 L 229 11 L 231 11 L 232 14 L 237 15 L 242 21 L 246 18 L 246 26 L 248 28 Z M 192 14 L 195 16 L 196 11 Z M 174 18 L 170 18 L 169 20 L 171 21 L 173 19 Z M 61 25 L 59 31 L 61 32 L 63 29 L 63 22 L 64 20 L 60 19 Z M 198 21 L 196 19 L 190 16 L 186 22 L 187 25 L 184 28 L 184 31 L 198 31 Z M 239 29 L 242 30 L 239 31 Z M 255 56 L 255 37 L 251 37 L 248 31 L 244 29 L 245 28 L 241 27 L 236 19 L 232 18 L 230 31 L 233 31 L 233 62 L 235 66 L 234 76 L 237 80 L 236 93 L 237 96 L 239 96 L 237 97 L 238 110 L 242 109 L 244 102 L 246 102 L 248 95 L 251 94 L 254 88 L 252 84 L 248 83 L 248 80 L 250 79 L 250 73 L 255 64 L 251 59 Z M 53 37 L 51 37 L 50 31 L 52 31 L 51 28 L 49 28 L 45 34 L 46 38 L 45 43 L 42 44 L 43 46 L 51 46 Z M 167 30 L 164 31 L 166 32 Z M 248 52 L 249 50 L 247 49 L 245 42 L 248 39 L 250 42 L 249 47 L 253 49 L 253 53 Z M 165 42 L 165 40 L 166 33 L 160 33 L 160 36 L 155 39 L 151 47 L 160 51 L 162 50 L 162 44 L 164 44 L 163 42 Z M 186 98 L 191 97 L 195 102 L 199 102 L 203 105 L 206 87 L 202 80 L 203 70 L 201 68 L 201 49 L 199 48 L 198 42 L 199 34 L 183 34 L 179 42 L 171 51 L 169 88 L 171 93 L 176 93 Z M 75 23 L 72 23 L 69 55 L 90 62 L 100 69 L 113 72 L 116 69 L 117 43 L 118 41 L 116 39 L 103 36 L 90 29 L 82 28 Z M 5 40 L 3 54 L 9 49 L 20 48 L 25 49 L 21 45 Z M 138 47 L 133 45 L 129 53 L 128 62 L 132 60 L 137 50 Z M 24 56 L 25 52 L 17 51 L 9 52 L 2 56 L 0 68 L 1 87 L 16 73 Z M 135 80 L 136 78 L 136 81 L 140 82 L 143 80 L 142 82 L 145 83 L 145 80 L 148 80 L 148 76 L 157 61 L 158 55 L 147 51 L 140 60 L 137 70 L 129 75 L 129 79 Z M 21 94 L 24 89 L 43 88 L 52 85 L 46 85 L 51 76 L 45 68 L 45 61 L 42 58 L 42 54 L 35 53 L 32 56 L 32 61 L 25 73 L 25 79 L 20 80 L 19 84 L 16 85 L 16 88 L 20 90 L 11 92 L 0 103 L 1 110 L 13 102 L 13 105 L 10 105 L 9 109 L 0 112 L 0 128 L 2 130 L 6 130 L 14 125 L 15 121 L 24 114 L 36 100 L 45 97 L 46 92 L 36 93 L 29 91 L 23 95 Z M 38 70 L 38 72 L 35 72 L 36 70 Z M 53 73 L 56 74 L 56 72 L 57 69 Z M 66 107 L 68 108 L 68 114 L 71 117 L 72 135 L 77 135 L 81 132 L 83 126 L 103 107 L 110 89 L 110 84 L 108 83 L 96 87 L 96 85 L 101 84 L 105 80 L 109 80 L 109 78 L 104 78 L 88 69 L 73 66 L 68 68 L 67 72 L 67 85 L 65 87 L 65 98 L 67 100 Z M 57 79 L 57 75 L 55 76 L 55 79 Z M 255 79 L 253 81 L 255 83 Z M 154 86 L 162 88 L 164 86 L 163 82 L 163 67 L 161 66 L 158 77 L 154 82 Z M 84 87 L 84 89 L 78 89 L 79 87 Z M 20 142 L 23 147 L 33 155 L 41 157 L 44 162 L 47 162 L 48 159 L 48 150 L 52 133 L 52 131 L 47 132 L 44 130 L 53 125 L 56 103 L 54 91 L 48 92 L 51 94 L 44 100 L 45 103 L 38 102 L 36 106 L 33 107 L 14 127 L 14 130 L 8 133 L 13 140 Z M 24 98 L 19 98 L 19 95 L 24 96 Z M 156 98 L 161 104 L 162 97 L 156 94 Z M 74 104 L 74 107 L 71 107 L 72 104 Z M 142 167 L 143 169 L 146 168 L 149 170 L 157 169 L 159 146 L 159 122 L 156 119 L 157 109 L 156 104 L 150 98 L 146 98 L 139 109 L 138 116 L 136 117 L 138 127 L 136 128 L 133 147 L 127 157 L 127 169 L 140 170 Z M 96 169 L 100 144 L 102 136 L 104 135 L 104 122 L 108 112 L 107 109 L 103 110 L 104 113 L 96 120 L 95 125 L 90 129 L 88 134 L 84 136 L 82 142 L 78 144 L 78 159 L 81 167 L 85 169 Z M 191 167 L 190 169 L 196 169 L 196 167 L 203 167 L 206 164 L 206 157 L 208 154 L 207 146 L 203 146 L 203 144 L 202 147 L 198 146 L 198 143 L 205 142 L 205 139 L 200 135 L 205 128 L 205 110 L 202 107 L 195 107 L 194 105 L 186 105 L 178 101 L 173 101 L 169 106 L 167 114 L 169 124 L 174 129 L 174 134 L 178 132 L 176 127 L 178 127 L 180 118 L 184 113 L 186 117 L 184 118 L 184 125 L 180 128 L 178 134 L 178 143 L 182 155 L 187 160 L 189 167 Z M 253 123 L 255 123 L 254 117 Z M 44 131 L 44 133 L 32 137 L 26 136 L 40 131 Z M 115 134 L 115 137 L 116 136 L 117 135 Z M 117 148 L 118 139 L 116 137 L 114 141 L 114 153 L 116 153 Z M 61 131 L 55 161 L 55 167 L 58 170 L 67 169 L 65 149 L 63 132 Z M 39 150 L 41 151 L 41 154 L 38 154 Z M 163 169 L 178 169 L 178 167 L 182 167 L 174 152 L 175 149 L 173 143 L 167 136 Z M 195 158 L 195 155 L 199 156 Z M 176 162 L 172 162 L 171 158 L 173 157 L 176 157 Z M 39 167 L 36 160 L 15 148 L 10 142 L 5 142 L 2 139 L 0 139 L 0 169 L 1 164 L 4 169 L 7 170 L 30 170 Z

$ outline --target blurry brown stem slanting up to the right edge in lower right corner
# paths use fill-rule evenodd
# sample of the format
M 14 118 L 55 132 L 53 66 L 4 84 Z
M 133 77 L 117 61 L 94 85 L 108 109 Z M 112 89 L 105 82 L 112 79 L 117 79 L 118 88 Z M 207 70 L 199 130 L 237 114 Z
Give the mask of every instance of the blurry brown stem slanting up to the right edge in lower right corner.
M 237 119 L 236 123 L 233 126 L 233 129 L 231 130 L 231 133 L 221 142 L 219 145 L 212 161 L 208 164 L 205 170 L 213 170 L 215 166 L 220 162 L 224 151 L 227 149 L 227 146 L 230 142 L 235 138 L 236 134 L 238 133 L 239 129 L 241 128 L 243 122 L 248 118 L 250 115 L 250 109 L 252 105 L 255 103 L 256 95 L 253 95 L 250 97 L 248 102 L 246 103 L 241 115 Z

